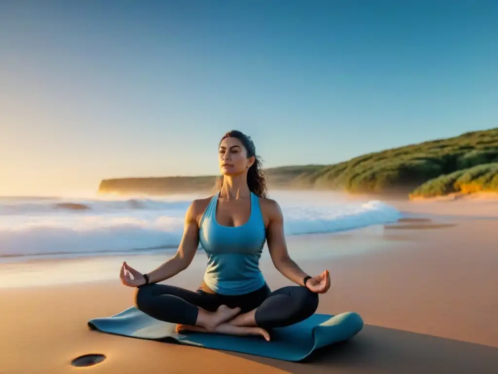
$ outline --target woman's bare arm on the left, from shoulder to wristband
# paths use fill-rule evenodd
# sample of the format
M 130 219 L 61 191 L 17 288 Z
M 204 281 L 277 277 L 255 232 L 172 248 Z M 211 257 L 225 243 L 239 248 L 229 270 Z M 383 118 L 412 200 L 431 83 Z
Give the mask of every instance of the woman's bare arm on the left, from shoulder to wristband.
M 147 273 L 149 283 L 162 282 L 185 270 L 194 259 L 199 246 L 199 225 L 197 217 L 200 213 L 200 201 L 194 200 L 185 213 L 185 223 L 180 246 L 175 255 L 157 269 Z

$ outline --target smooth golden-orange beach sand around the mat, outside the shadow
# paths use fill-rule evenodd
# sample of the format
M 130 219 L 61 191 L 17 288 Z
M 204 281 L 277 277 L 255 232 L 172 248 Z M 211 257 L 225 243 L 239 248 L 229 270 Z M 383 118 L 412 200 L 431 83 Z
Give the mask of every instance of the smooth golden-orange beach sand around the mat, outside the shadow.
M 133 290 L 118 282 L 122 259 L 116 258 L 94 259 L 101 265 L 111 261 L 117 270 L 112 280 L 38 287 L 19 285 L 30 276 L 47 283 L 43 274 L 52 279 L 58 271 L 52 262 L 10 264 L 9 282 L 17 279 L 18 287 L 0 289 L 0 373 L 497 373 L 497 205 L 398 206 L 425 219 L 288 239 L 306 271 L 331 271 L 333 287 L 321 296 L 318 312 L 356 311 L 366 324 L 350 342 L 318 352 L 307 363 L 88 330 L 89 319 L 115 314 L 132 302 Z M 319 250 L 308 255 L 309 248 Z M 327 249 L 352 254 L 320 258 L 318 253 Z M 59 265 L 84 260 L 64 261 Z M 18 266 L 15 274 L 12 266 Z M 6 269 L 0 266 L 0 273 Z M 289 284 L 268 261 L 262 269 L 270 287 Z M 194 288 L 201 277 L 196 263 L 171 283 Z M 71 366 L 85 354 L 104 354 L 106 360 L 87 368 Z

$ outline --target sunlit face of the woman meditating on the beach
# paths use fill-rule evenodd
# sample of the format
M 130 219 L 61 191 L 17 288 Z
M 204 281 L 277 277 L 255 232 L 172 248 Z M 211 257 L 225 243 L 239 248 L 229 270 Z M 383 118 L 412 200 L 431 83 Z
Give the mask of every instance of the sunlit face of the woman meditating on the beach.
M 247 150 L 237 138 L 225 138 L 218 150 L 218 161 L 222 175 L 243 174 L 254 163 L 254 157 L 247 157 Z

